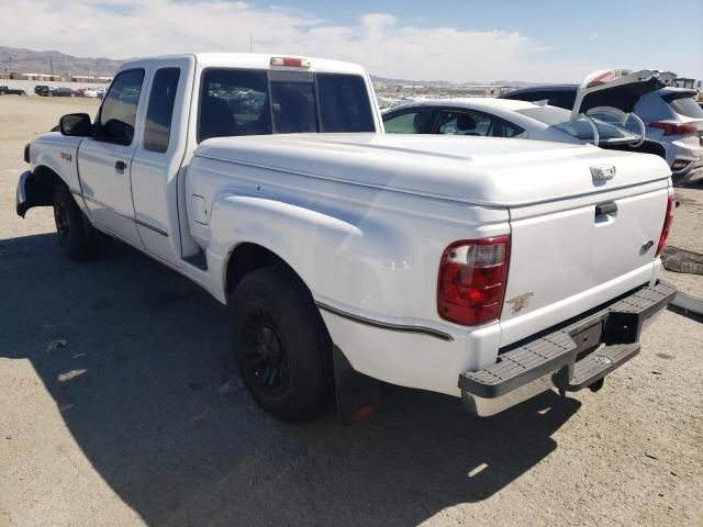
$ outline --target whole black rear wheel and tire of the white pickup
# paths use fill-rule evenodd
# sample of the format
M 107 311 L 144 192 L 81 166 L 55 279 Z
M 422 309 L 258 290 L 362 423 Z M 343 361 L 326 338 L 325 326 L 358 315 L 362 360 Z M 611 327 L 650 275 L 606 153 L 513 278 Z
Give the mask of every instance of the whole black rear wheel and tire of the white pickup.
M 247 274 L 230 302 L 237 368 L 254 400 L 290 423 L 317 414 L 332 393 L 332 340 L 310 292 L 283 266 Z

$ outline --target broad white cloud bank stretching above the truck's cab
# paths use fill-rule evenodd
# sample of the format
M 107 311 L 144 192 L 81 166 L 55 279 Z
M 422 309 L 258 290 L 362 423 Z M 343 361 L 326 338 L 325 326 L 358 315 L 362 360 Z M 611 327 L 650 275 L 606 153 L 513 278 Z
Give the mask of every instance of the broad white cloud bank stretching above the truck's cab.
M 451 81 L 579 80 L 598 69 L 555 64 L 518 32 L 402 25 L 367 13 L 354 25 L 313 14 L 223 0 L 32 0 L 0 7 L 3 44 L 77 56 L 129 58 L 165 53 L 255 52 L 352 60 L 371 72 Z

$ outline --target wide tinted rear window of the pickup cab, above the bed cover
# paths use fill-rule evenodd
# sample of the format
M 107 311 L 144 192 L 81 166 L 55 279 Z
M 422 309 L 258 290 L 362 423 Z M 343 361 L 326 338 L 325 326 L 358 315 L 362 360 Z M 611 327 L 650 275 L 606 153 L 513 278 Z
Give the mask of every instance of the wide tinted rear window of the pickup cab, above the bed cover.
M 198 142 L 305 132 L 376 132 L 365 79 L 311 71 L 203 72 Z

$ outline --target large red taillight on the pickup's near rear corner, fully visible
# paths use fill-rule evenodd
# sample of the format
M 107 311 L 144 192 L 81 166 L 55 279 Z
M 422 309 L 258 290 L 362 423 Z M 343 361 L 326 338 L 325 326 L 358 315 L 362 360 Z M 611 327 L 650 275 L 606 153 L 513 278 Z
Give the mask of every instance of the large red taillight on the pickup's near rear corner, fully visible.
M 473 326 L 501 316 L 510 236 L 456 242 L 439 262 L 437 311 L 446 321 Z

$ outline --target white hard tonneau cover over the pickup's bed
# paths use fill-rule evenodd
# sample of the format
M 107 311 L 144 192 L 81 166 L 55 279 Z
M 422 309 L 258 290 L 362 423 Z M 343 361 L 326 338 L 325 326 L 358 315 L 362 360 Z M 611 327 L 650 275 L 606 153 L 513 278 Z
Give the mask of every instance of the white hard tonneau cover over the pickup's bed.
M 657 156 L 526 139 L 400 134 L 221 137 L 196 156 L 483 205 L 526 205 L 670 176 Z

